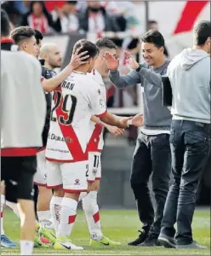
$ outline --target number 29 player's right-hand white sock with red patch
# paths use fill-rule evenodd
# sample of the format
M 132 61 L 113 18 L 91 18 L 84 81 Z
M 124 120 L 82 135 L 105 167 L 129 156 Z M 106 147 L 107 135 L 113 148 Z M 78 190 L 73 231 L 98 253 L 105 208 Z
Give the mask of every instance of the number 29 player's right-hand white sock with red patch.
M 64 197 L 61 201 L 58 236 L 70 236 L 77 218 L 77 201 Z

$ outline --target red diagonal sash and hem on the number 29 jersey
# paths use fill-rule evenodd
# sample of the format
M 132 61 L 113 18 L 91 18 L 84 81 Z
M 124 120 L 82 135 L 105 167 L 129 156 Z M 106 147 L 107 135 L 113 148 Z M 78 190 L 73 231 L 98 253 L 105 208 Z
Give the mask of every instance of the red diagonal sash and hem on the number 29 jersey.
M 61 92 L 61 87 L 58 87 L 56 90 Z M 56 101 L 56 99 L 54 99 Z M 55 109 L 57 119 L 59 119 L 60 116 L 63 116 L 64 119 L 68 118 L 67 113 L 62 111 L 62 104 L 63 104 L 63 97 L 60 101 L 60 106 Z M 58 124 L 60 125 L 60 131 L 63 135 L 63 137 L 71 137 L 71 142 L 66 142 L 67 148 L 70 150 L 71 155 L 73 160 L 54 160 L 54 161 L 59 161 L 59 162 L 79 162 L 79 161 L 84 161 L 88 160 L 88 152 L 83 152 L 83 149 L 81 147 L 81 144 L 77 138 L 76 132 L 72 128 L 71 125 L 62 125 L 58 121 Z M 52 160 L 47 158 L 47 160 Z

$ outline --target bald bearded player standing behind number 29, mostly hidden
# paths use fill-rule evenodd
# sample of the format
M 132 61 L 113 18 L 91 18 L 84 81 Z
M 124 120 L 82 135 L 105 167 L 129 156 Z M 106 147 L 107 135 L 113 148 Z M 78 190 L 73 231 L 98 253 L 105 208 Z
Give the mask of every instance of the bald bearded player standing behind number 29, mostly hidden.
M 45 79 L 51 79 L 55 76 L 54 68 L 61 66 L 60 49 L 55 44 L 44 44 L 40 49 L 40 57 L 44 66 L 42 67 L 42 75 Z M 47 59 L 47 61 L 44 61 Z M 47 119 L 43 130 L 43 146 L 46 146 L 49 130 L 49 119 L 51 113 L 51 96 L 45 94 L 47 102 Z M 38 185 L 39 195 L 37 200 L 37 216 L 40 224 L 40 235 L 48 238 L 54 243 L 54 224 L 51 221 L 50 201 L 52 198 L 52 190 L 46 186 L 46 160 L 45 147 L 41 148 L 37 153 L 37 173 L 34 177 L 34 182 Z

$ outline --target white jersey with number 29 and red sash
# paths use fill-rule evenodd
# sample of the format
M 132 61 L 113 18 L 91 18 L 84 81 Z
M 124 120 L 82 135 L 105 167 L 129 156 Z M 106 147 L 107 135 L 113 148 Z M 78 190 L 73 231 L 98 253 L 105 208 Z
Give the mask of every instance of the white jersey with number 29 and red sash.
M 98 84 L 88 73 L 72 72 L 54 91 L 51 109 L 47 160 L 87 160 L 91 115 L 106 113 Z

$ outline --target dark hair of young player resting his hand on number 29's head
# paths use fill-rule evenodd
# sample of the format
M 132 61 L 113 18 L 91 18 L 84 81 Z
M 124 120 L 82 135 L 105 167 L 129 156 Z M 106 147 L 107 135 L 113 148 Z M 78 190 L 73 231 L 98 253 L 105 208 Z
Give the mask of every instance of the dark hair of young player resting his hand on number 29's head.
M 30 26 L 19 26 L 11 32 L 11 38 L 15 44 L 20 44 L 20 41 L 35 37 L 35 31 Z

